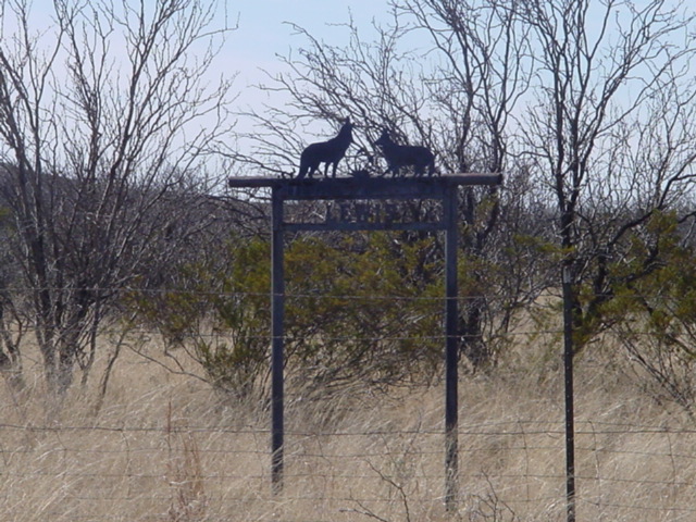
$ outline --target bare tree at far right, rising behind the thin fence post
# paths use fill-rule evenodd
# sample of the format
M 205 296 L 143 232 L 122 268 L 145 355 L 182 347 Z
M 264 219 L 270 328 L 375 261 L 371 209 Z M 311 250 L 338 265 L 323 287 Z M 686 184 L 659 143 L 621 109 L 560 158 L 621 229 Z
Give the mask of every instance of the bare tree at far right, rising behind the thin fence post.
M 555 200 L 580 350 L 611 324 L 617 289 L 663 262 L 652 221 L 695 215 L 682 204 L 696 182 L 694 14 L 666 0 L 521 5 L 537 41 L 525 149 Z

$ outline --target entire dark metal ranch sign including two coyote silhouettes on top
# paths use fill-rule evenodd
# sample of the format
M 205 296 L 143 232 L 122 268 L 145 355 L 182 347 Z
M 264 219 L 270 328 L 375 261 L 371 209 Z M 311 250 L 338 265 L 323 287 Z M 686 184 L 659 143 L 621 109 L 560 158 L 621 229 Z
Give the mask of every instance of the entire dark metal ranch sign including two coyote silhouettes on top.
M 352 124 L 346 120 L 338 135 L 312 144 L 302 152 L 300 170 L 293 177 L 232 177 L 235 189 L 270 189 L 272 201 L 271 288 L 271 481 L 282 490 L 284 467 L 284 235 L 328 231 L 430 231 L 445 233 L 445 502 L 453 508 L 458 476 L 458 202 L 462 187 L 496 186 L 499 174 L 436 174 L 433 154 L 424 147 L 396 145 L 383 132 L 373 145 L 387 161 L 387 172 L 371 175 L 363 170 L 336 176 L 336 165 L 352 141 Z M 324 164 L 324 176 L 313 174 Z M 332 167 L 332 175 L 328 170 Z M 406 175 L 411 173 L 412 175 Z M 388 175 L 390 174 L 390 176 Z M 409 219 L 405 201 L 435 201 L 428 219 Z M 323 201 L 324 212 L 311 217 L 297 212 L 298 201 Z M 439 203 L 439 204 L 437 204 Z

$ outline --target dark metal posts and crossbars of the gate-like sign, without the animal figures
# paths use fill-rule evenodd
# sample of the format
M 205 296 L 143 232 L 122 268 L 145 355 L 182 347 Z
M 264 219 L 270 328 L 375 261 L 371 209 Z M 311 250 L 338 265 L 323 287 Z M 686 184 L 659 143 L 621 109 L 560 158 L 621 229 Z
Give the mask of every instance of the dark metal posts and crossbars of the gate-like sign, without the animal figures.
M 272 304 L 271 304 L 271 477 L 275 492 L 283 486 L 284 446 L 284 310 L 283 238 L 302 231 L 432 231 L 445 232 L 445 501 L 457 499 L 458 456 L 458 283 L 457 236 L 459 187 L 499 185 L 499 174 L 453 174 L 434 177 L 338 177 L 283 179 L 233 177 L 232 188 L 270 188 L 272 191 Z M 322 221 L 290 222 L 286 201 L 330 201 Z M 442 216 L 432 222 L 402 221 L 390 200 L 439 200 Z

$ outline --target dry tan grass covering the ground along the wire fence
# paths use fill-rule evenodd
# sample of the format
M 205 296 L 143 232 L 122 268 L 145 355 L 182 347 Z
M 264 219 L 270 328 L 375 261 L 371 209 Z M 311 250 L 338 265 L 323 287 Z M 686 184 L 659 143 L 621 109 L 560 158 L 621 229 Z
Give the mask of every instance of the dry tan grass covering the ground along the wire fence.
M 38 376 L 22 396 L 2 384 L 0 520 L 563 521 L 560 358 L 533 351 L 461 375 L 456 512 L 443 504 L 440 385 L 313 401 L 290 390 L 274 495 L 263 405 L 226 403 L 126 351 L 98 412 L 92 389 L 57 412 Z M 579 360 L 577 520 L 696 520 L 696 426 L 625 364 Z

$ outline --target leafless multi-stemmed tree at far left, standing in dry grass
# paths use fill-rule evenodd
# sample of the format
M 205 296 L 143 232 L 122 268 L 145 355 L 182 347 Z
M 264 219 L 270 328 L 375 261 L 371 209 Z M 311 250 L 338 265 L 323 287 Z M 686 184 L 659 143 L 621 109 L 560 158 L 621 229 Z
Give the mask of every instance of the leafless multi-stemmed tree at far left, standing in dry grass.
M 197 227 L 229 79 L 204 76 L 229 27 L 215 2 L 3 2 L 1 197 L 49 388 L 86 378 L 119 289 L 157 276 Z M 9 27 L 13 27 L 9 29 Z M 200 217 L 199 214 L 198 217 Z

